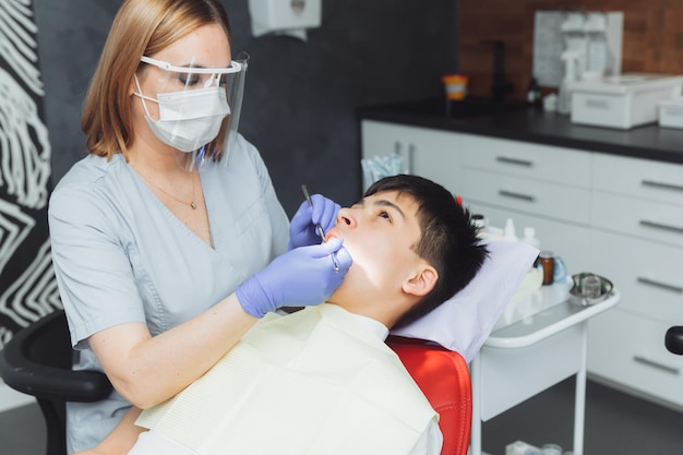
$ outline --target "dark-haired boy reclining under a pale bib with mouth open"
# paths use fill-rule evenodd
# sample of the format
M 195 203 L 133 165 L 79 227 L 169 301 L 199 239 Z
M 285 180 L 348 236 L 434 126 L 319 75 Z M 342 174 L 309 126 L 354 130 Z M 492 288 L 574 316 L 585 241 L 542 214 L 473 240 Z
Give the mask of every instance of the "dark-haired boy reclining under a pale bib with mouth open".
M 332 237 L 354 263 L 327 303 L 267 314 L 204 376 L 136 421 L 131 410 L 92 453 L 439 454 L 438 415 L 384 339 L 477 274 L 487 250 L 469 213 L 430 180 L 393 176 L 342 208 Z

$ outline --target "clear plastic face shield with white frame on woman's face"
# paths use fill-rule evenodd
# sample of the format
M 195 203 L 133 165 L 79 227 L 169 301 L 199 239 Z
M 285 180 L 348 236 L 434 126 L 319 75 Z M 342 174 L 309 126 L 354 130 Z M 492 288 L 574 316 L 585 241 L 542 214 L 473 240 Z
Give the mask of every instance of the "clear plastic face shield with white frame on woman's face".
M 144 56 L 140 60 L 157 67 L 159 76 L 156 97 L 143 93 L 135 76 L 135 95 L 142 98 L 145 119 L 157 139 L 176 148 L 179 166 L 185 170 L 227 166 L 237 137 L 249 56 L 242 53 L 228 68 L 194 62 L 176 67 Z

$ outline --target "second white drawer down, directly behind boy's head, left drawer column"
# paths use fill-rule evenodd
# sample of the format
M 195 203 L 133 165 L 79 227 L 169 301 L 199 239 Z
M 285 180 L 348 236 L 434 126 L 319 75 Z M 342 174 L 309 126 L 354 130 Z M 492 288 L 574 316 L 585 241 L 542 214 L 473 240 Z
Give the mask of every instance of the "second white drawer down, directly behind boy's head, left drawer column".
M 462 194 L 465 202 L 471 200 L 576 224 L 589 223 L 588 190 L 559 187 L 478 169 L 464 169 L 462 178 Z

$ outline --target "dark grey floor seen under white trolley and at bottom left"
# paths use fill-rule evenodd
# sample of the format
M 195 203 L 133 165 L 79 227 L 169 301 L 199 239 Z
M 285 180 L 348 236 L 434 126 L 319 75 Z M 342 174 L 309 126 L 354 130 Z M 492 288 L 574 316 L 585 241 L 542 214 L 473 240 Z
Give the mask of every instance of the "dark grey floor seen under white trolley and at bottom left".
M 683 414 L 588 381 L 584 455 L 683 453 Z M 522 440 L 554 443 L 570 451 L 573 438 L 574 380 L 568 379 L 483 424 L 483 450 L 505 455 Z M 36 405 L 0 412 L 0 453 L 40 455 L 45 428 Z

